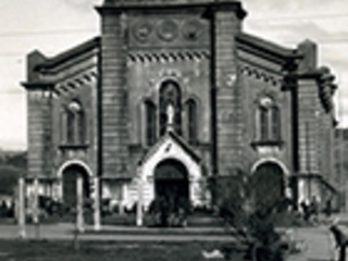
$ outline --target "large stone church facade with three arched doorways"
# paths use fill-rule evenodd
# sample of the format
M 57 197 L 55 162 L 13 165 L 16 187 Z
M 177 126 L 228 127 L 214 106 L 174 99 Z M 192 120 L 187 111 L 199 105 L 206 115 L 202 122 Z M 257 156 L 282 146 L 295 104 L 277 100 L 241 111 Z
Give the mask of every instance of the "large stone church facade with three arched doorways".
M 243 173 L 259 200 L 336 198 L 336 86 L 314 42 L 244 32 L 233 0 L 104 0 L 96 11 L 100 36 L 27 55 L 27 179 L 41 194 L 72 202 L 80 176 L 91 198 L 98 177 L 119 207 L 211 207 L 214 185 Z

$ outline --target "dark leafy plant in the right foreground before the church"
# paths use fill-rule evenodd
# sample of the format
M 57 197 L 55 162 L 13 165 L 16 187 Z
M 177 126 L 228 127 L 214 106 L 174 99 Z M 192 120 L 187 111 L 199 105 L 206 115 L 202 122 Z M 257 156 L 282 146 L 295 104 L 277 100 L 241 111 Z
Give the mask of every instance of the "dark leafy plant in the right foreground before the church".
M 246 258 L 252 261 L 282 261 L 287 244 L 275 229 L 275 219 L 286 200 L 258 203 L 254 186 L 249 175 L 234 170 L 231 176 L 217 181 L 222 197 L 217 200 L 219 214 L 232 226 L 234 236 L 246 249 Z

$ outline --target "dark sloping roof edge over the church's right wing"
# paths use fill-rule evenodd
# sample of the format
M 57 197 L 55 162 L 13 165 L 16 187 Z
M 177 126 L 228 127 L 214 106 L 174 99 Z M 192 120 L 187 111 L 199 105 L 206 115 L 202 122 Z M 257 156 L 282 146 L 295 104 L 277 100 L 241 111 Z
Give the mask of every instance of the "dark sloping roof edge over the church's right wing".
M 277 63 L 302 58 L 302 54 L 300 54 L 297 49 L 284 48 L 246 33 L 237 34 L 236 41 L 238 49 L 270 59 Z

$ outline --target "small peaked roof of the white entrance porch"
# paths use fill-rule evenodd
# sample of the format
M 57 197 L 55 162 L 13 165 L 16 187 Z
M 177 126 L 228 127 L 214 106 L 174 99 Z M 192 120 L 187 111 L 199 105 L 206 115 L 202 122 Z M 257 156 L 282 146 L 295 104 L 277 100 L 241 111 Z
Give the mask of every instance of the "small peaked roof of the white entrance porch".
M 175 134 L 172 130 L 169 130 L 144 156 L 144 158 L 141 159 L 141 163 L 144 164 L 146 161 L 148 161 L 151 158 L 151 156 L 153 156 L 159 150 L 159 148 L 163 144 L 165 144 L 165 141 L 167 139 L 172 139 L 174 142 L 176 142 L 181 147 L 181 149 L 183 149 L 186 152 L 186 154 L 188 154 L 196 163 L 200 162 L 200 157 L 192 150 L 192 148 L 182 137 L 179 137 L 177 134 Z

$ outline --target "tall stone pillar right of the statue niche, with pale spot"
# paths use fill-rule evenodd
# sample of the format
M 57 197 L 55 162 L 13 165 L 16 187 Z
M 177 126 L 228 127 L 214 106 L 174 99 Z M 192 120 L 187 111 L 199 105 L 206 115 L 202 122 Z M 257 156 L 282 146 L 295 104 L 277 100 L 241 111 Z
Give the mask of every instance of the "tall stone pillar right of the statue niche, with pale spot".
M 220 7 L 214 20 L 215 116 L 217 172 L 231 175 L 231 170 L 243 167 L 244 110 L 243 88 L 238 85 L 235 36 L 240 32 L 240 20 L 233 8 Z

